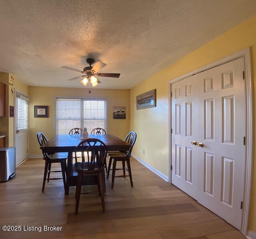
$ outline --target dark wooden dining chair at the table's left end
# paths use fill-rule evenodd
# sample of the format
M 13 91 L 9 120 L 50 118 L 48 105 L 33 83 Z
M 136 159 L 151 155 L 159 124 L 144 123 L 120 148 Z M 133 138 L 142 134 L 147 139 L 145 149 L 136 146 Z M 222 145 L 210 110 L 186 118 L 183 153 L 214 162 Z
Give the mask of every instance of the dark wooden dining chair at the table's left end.
M 40 144 L 40 146 L 44 145 L 48 140 L 46 136 L 42 132 L 37 133 L 37 140 Z M 43 181 L 43 186 L 42 186 L 42 192 L 44 192 L 44 186 L 46 182 L 46 177 L 47 177 L 47 182 L 49 180 L 58 180 L 58 179 L 63 179 L 63 184 L 64 184 L 64 189 L 66 187 L 66 159 L 68 157 L 67 153 L 54 153 L 54 154 L 47 154 L 43 153 L 43 159 L 45 160 L 45 166 L 44 166 L 44 181 Z M 61 171 L 51 171 L 51 166 L 52 163 L 60 163 L 61 165 Z M 62 178 L 50 178 L 50 173 L 51 172 L 62 172 Z

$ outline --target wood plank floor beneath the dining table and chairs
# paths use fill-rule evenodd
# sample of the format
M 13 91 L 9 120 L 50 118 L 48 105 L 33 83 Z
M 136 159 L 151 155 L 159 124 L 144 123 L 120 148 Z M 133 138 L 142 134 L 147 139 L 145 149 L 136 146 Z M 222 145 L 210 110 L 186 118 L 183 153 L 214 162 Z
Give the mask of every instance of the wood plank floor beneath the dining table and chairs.
M 116 178 L 113 190 L 111 175 L 106 180 L 106 213 L 102 211 L 97 194 L 82 194 L 76 216 L 75 187 L 71 187 L 70 194 L 65 196 L 62 180 L 52 180 L 46 182 L 42 193 L 44 160 L 26 160 L 16 168 L 14 179 L 0 184 L 1 227 L 54 225 L 62 229 L 41 232 L 0 229 L 0 238 L 245 238 L 223 219 L 133 158 L 131 167 L 134 188 L 130 186 L 129 177 Z M 56 170 L 60 165 L 52 168 Z M 121 173 L 122 170 L 116 172 Z M 60 174 L 55 173 L 58 177 Z M 86 187 L 82 188 L 84 190 Z

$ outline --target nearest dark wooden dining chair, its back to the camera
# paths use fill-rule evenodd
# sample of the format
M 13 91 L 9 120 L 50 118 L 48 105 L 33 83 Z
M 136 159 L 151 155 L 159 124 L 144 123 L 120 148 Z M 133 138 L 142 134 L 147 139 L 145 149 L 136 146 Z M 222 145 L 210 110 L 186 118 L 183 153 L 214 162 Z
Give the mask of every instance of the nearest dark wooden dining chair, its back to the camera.
M 78 160 L 77 152 L 82 154 L 82 160 Z M 88 138 L 78 144 L 75 149 L 75 170 L 78 173 L 76 184 L 76 212 L 78 213 L 83 176 L 97 177 L 98 192 L 86 192 L 84 194 L 99 193 L 101 196 L 102 209 L 105 212 L 103 192 L 104 165 L 108 150 L 104 142 L 95 138 Z M 96 157 L 97 155 L 97 157 Z

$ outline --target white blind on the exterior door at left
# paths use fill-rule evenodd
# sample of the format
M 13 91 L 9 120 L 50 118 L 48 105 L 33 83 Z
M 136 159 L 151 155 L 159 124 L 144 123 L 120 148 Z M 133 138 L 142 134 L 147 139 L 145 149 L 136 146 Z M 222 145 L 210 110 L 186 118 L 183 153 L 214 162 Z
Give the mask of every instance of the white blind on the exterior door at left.
M 16 97 L 16 129 L 28 129 L 28 99 L 19 94 Z

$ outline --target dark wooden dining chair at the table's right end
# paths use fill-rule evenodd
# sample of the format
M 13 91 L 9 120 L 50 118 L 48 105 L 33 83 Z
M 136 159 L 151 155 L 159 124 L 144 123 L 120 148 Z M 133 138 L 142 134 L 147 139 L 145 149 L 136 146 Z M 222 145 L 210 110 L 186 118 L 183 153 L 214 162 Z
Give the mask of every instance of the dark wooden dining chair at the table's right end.
M 128 176 L 130 177 L 130 184 L 133 187 L 132 171 L 131 171 L 131 166 L 130 166 L 130 157 L 131 157 L 132 148 L 133 148 L 133 146 L 135 144 L 136 138 L 137 138 L 137 134 L 134 131 L 130 132 L 126 136 L 124 141 L 127 142 L 128 144 L 130 144 L 130 148 L 129 148 L 129 150 L 127 152 L 126 151 L 108 152 L 109 163 L 108 163 L 107 179 L 108 179 L 108 176 L 109 176 L 112 159 L 114 160 L 113 167 L 112 167 L 112 183 L 111 183 L 111 188 L 114 188 L 115 177 L 124 177 L 124 178 L 126 177 L 125 170 L 128 171 L 128 173 L 129 173 Z M 117 161 L 122 161 L 122 166 L 123 166 L 122 168 L 116 168 L 116 162 Z M 127 168 L 125 167 L 125 162 L 127 164 Z M 115 176 L 116 170 L 123 170 L 123 176 Z

